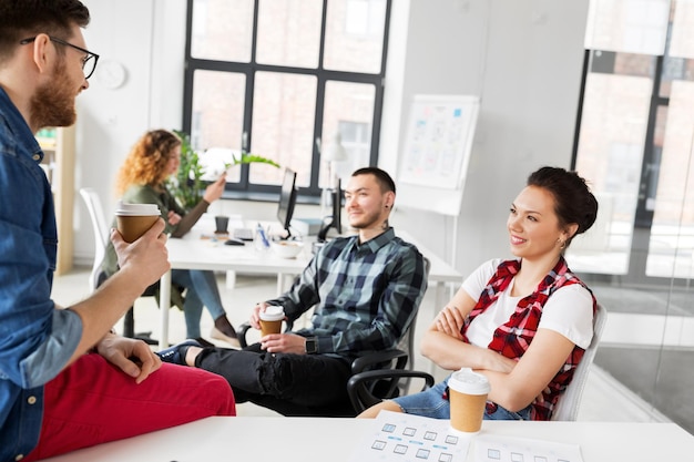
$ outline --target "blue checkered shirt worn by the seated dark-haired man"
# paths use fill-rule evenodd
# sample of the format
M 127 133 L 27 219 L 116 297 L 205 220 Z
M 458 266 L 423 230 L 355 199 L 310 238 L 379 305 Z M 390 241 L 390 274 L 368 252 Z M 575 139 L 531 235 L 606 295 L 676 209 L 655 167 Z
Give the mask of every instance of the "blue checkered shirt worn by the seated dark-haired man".
M 355 358 L 395 348 L 417 315 L 427 290 L 423 257 L 392 228 L 359 244 L 358 236 L 326 244 L 289 291 L 271 304 L 288 319 L 316 308 L 312 327 L 318 353 Z

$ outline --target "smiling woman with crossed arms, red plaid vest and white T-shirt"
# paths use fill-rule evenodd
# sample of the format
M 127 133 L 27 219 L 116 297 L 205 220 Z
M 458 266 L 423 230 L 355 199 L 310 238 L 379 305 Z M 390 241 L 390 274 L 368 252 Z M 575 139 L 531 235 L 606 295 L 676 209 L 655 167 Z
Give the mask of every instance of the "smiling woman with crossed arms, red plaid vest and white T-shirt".
M 482 264 L 439 312 L 421 340 L 443 369 L 471 368 L 491 384 L 484 419 L 549 420 L 593 336 L 596 301 L 563 253 L 595 222 L 598 201 L 585 181 L 542 167 L 511 204 L 507 229 L 518 259 Z M 449 419 L 448 378 L 382 409 Z

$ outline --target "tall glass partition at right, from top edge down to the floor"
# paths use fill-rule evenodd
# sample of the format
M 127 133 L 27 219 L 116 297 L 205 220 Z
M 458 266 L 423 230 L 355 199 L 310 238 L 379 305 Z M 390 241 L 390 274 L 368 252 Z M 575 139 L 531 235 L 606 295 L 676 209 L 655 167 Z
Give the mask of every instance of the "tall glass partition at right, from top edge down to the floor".
M 693 28 L 688 0 L 591 2 L 574 167 L 600 213 L 569 253 L 622 336 L 596 363 L 690 432 Z

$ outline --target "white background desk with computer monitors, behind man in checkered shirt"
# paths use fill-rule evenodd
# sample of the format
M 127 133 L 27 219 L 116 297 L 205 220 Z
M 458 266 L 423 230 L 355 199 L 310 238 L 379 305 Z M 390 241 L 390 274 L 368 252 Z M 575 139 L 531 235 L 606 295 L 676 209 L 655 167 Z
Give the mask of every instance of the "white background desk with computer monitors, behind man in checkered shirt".
M 254 222 L 252 222 L 254 223 Z M 203 235 L 211 236 L 214 233 L 214 219 L 206 214 L 183 238 L 170 238 L 169 261 L 172 268 L 177 269 L 211 269 L 234 270 L 254 274 L 276 274 L 277 292 L 285 289 L 284 277 L 300 274 L 310 260 L 310 242 L 304 246 L 304 251 L 296 258 L 279 258 L 269 249 L 258 250 L 253 243 L 245 246 L 227 246 L 222 242 L 202 239 Z M 436 307 L 442 307 L 446 299 L 446 285 L 449 283 L 460 284 L 462 275 L 443 259 L 433 255 L 430 250 L 416 243 L 404 232 L 396 229 L 396 234 L 402 239 L 417 245 L 419 251 L 429 259 L 429 287 L 436 290 Z M 160 288 L 160 349 L 169 347 L 169 307 L 171 306 L 171 271 L 162 276 Z

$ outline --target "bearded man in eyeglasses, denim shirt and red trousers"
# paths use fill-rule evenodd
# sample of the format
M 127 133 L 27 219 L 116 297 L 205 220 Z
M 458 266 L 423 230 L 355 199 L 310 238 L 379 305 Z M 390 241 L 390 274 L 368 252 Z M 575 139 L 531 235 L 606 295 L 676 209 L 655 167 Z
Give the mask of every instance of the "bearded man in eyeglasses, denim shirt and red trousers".
M 0 0 L 0 462 L 235 413 L 223 378 L 110 331 L 170 267 L 162 219 L 133 244 L 112 233 L 121 270 L 92 297 L 51 300 L 59 240 L 33 134 L 75 122 L 99 59 L 89 21 L 76 0 Z

